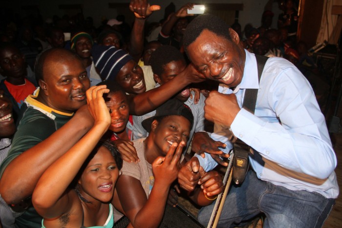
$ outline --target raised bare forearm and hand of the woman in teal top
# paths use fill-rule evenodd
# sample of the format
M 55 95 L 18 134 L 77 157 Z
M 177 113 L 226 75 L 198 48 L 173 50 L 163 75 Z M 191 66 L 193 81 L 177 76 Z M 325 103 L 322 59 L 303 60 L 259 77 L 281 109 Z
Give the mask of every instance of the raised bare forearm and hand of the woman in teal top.
M 43 217 L 54 218 L 65 212 L 65 206 L 69 204 L 69 200 L 64 192 L 107 131 L 110 115 L 102 97 L 103 93 L 107 92 L 109 90 L 106 85 L 93 86 L 87 90 L 87 103 L 89 111 L 95 119 L 94 126 L 80 141 L 49 166 L 39 179 L 32 195 L 32 203 Z

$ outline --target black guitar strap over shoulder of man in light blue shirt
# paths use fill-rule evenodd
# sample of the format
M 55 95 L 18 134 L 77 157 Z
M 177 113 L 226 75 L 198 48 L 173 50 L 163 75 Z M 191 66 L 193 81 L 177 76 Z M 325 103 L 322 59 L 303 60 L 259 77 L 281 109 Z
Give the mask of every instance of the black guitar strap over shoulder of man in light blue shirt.
M 259 82 L 267 59 L 268 57 L 266 56 L 256 55 L 257 74 Z M 243 99 L 242 107 L 251 112 L 252 114 L 254 114 L 254 111 L 256 109 L 257 91 L 258 89 L 246 89 L 245 96 Z M 245 179 L 249 167 L 249 151 L 249 145 L 245 144 L 240 139 L 236 139 L 234 144 L 234 163 L 232 172 L 232 180 L 236 185 L 241 184 Z

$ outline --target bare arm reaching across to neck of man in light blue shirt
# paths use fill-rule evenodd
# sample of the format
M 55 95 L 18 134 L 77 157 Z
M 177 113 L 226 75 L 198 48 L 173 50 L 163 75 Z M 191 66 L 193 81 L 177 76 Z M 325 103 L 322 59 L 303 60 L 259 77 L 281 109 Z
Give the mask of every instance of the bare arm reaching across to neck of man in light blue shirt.
M 141 116 L 155 110 L 190 83 L 203 82 L 203 76 L 189 64 L 184 71 L 161 86 L 129 96 L 129 114 Z

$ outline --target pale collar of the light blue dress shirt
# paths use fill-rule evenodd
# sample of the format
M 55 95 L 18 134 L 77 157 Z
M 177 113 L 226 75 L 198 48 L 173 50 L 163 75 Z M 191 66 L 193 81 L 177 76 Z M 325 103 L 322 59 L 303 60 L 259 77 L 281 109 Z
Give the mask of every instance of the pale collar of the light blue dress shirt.
M 239 89 L 258 89 L 259 88 L 259 80 L 257 76 L 257 65 L 256 65 L 256 56 L 253 53 L 250 53 L 245 49 L 246 60 L 245 67 L 243 69 L 243 76 L 241 83 L 238 84 L 234 93 L 236 93 Z

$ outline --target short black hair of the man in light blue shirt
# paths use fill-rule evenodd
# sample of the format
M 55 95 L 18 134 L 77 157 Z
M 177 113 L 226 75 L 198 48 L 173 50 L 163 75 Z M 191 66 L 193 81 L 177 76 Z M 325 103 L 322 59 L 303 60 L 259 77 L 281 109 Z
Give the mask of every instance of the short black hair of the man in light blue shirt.
M 187 51 L 188 46 L 192 44 L 192 42 L 195 41 L 205 29 L 215 33 L 217 36 L 224 37 L 231 41 L 232 38 L 229 33 L 229 28 L 230 26 L 226 24 L 226 22 L 212 14 L 203 14 L 197 16 L 188 24 L 187 28 L 185 29 L 183 35 L 183 45 L 185 51 Z

